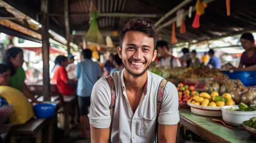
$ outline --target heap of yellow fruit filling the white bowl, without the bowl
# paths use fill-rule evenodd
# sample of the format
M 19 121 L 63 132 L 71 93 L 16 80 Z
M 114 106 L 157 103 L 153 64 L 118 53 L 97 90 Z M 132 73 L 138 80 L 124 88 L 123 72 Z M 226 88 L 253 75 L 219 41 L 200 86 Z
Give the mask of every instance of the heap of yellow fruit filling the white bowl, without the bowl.
M 207 92 L 202 92 L 199 95 L 191 97 L 188 102 L 195 105 L 210 107 L 235 105 L 235 102 L 232 100 L 229 93 L 224 93 L 222 96 L 219 96 L 219 93 L 216 91 L 211 92 L 211 95 L 209 95 Z

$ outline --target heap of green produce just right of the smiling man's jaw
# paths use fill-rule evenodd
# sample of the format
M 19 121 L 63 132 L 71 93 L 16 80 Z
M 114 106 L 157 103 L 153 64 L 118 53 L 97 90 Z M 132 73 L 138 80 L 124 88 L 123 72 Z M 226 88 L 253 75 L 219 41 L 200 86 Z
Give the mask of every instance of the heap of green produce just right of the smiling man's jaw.
M 185 67 L 171 68 L 169 66 L 165 66 L 165 67 L 150 66 L 148 70 L 163 78 L 177 78 L 178 75 L 186 72 L 188 68 L 185 68 Z

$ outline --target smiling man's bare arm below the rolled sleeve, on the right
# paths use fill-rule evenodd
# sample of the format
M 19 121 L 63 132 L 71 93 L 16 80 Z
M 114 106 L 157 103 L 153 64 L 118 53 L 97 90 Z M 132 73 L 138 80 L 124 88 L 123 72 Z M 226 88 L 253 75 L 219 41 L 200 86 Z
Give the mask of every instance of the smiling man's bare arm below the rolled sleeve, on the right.
M 175 143 L 178 125 L 158 125 L 158 142 Z

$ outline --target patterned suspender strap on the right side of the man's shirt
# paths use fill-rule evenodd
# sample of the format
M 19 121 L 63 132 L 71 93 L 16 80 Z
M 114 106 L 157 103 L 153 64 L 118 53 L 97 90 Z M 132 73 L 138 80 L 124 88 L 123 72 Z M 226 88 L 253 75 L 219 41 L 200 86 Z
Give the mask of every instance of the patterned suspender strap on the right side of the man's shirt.
M 156 121 L 156 125 L 155 125 L 155 139 L 156 139 L 156 143 L 158 143 L 158 136 L 157 136 L 157 132 L 158 132 L 158 116 L 161 110 L 161 106 L 162 106 L 162 100 L 163 100 L 163 95 L 164 95 L 164 89 L 165 86 L 167 84 L 167 81 L 165 79 L 162 79 L 162 81 L 160 82 L 159 86 L 158 86 L 158 90 L 157 90 L 157 121 Z

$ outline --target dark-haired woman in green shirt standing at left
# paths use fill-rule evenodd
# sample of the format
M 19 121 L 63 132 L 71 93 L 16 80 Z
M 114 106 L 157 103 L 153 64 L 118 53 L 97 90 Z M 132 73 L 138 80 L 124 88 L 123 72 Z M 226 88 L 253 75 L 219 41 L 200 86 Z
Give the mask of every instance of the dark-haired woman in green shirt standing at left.
M 10 86 L 20 90 L 27 96 L 27 98 L 38 103 L 34 95 L 29 91 L 24 83 L 26 75 L 22 68 L 23 62 L 23 51 L 21 48 L 9 48 L 5 53 L 3 63 L 11 69 Z

